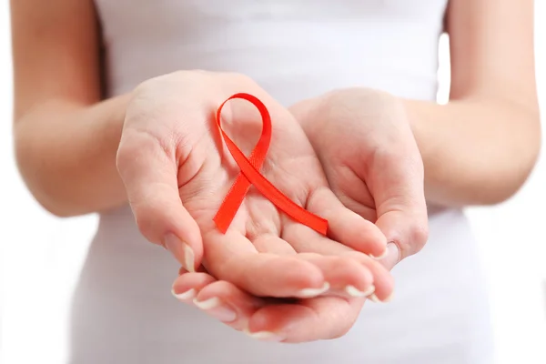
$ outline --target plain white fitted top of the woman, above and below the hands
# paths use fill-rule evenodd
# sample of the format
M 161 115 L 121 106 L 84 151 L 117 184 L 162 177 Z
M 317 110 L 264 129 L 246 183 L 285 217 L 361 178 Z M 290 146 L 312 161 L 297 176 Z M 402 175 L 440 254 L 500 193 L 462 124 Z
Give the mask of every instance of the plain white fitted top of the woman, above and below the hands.
M 368 86 L 434 100 L 447 0 L 98 0 L 108 92 L 178 69 L 235 71 L 281 103 Z M 491 362 L 475 243 L 458 210 L 430 216 L 430 241 L 394 269 L 395 298 L 366 304 L 341 339 L 258 342 L 179 303 L 177 263 L 147 243 L 130 208 L 101 217 L 72 312 L 72 362 Z

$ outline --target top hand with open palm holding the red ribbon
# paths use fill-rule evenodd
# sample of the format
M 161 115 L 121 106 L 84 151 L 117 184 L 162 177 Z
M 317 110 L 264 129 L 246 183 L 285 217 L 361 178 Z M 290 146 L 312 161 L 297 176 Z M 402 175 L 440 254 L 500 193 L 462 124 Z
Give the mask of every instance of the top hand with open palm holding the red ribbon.
M 224 150 L 215 112 L 241 92 L 262 100 L 272 118 L 264 176 L 328 219 L 328 237 L 292 221 L 253 188 L 227 233 L 215 226 L 213 217 L 239 173 Z M 222 119 L 248 152 L 262 126 L 257 111 L 234 100 Z M 389 272 L 366 255 L 381 256 L 385 236 L 339 202 L 298 121 L 248 77 L 187 71 L 137 86 L 116 164 L 142 234 L 188 271 L 202 262 L 215 278 L 255 296 L 363 297 L 375 291 L 382 299 L 391 293 Z

